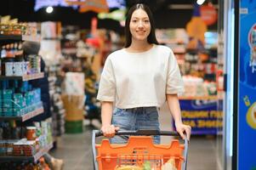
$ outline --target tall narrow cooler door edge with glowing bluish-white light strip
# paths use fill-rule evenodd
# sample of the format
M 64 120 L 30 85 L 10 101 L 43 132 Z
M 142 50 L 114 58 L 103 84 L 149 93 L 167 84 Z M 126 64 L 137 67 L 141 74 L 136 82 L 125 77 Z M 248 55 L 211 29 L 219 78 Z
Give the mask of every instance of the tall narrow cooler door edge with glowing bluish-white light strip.
M 234 42 L 235 42 L 235 10 L 234 0 L 224 2 L 224 116 L 223 116 L 223 139 L 222 145 L 222 167 L 225 170 L 232 169 L 231 159 L 233 156 L 233 119 L 234 119 Z M 235 89 L 236 90 L 236 89 Z M 237 96 L 237 95 L 236 95 Z M 220 147 L 220 146 L 219 146 Z

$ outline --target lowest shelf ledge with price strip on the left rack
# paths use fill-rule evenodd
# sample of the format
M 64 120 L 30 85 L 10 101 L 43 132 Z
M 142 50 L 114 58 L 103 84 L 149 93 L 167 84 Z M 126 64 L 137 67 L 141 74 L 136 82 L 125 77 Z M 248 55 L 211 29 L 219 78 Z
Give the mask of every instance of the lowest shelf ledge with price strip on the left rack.
M 34 161 L 36 162 L 40 157 L 42 157 L 44 154 L 48 152 L 53 148 L 53 143 L 48 144 L 45 148 L 42 150 L 39 150 L 36 155 L 34 156 L 0 156 L 0 162 L 1 161 Z

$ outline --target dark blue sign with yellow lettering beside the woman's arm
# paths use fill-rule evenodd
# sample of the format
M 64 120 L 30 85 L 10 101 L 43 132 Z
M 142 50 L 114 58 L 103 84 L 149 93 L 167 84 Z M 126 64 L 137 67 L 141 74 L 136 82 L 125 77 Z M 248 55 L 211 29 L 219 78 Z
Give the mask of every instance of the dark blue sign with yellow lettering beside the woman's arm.
M 182 121 L 192 134 L 216 134 L 222 128 L 222 102 L 217 99 L 180 99 Z

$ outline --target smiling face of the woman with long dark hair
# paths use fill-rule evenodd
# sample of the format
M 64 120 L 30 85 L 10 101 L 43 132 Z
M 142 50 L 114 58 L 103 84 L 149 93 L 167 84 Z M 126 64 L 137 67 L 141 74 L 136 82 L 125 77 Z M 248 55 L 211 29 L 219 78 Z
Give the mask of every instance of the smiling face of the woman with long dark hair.
M 134 40 L 146 40 L 151 33 L 149 16 L 141 8 L 134 10 L 129 26 Z

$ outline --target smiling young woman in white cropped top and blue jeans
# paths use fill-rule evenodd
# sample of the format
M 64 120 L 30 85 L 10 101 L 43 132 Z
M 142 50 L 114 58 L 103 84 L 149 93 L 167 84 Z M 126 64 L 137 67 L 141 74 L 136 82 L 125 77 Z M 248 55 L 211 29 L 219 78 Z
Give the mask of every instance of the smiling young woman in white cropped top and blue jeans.
M 179 66 L 173 51 L 158 45 L 150 8 L 142 3 L 130 8 L 125 33 L 125 47 L 108 56 L 100 77 L 97 99 L 105 137 L 117 130 L 159 130 L 158 108 L 167 101 L 177 132 L 190 139 L 191 127 L 182 123 L 179 108 L 178 94 L 184 90 Z M 111 142 L 127 139 L 117 136 Z M 159 144 L 160 137 L 154 142 Z

